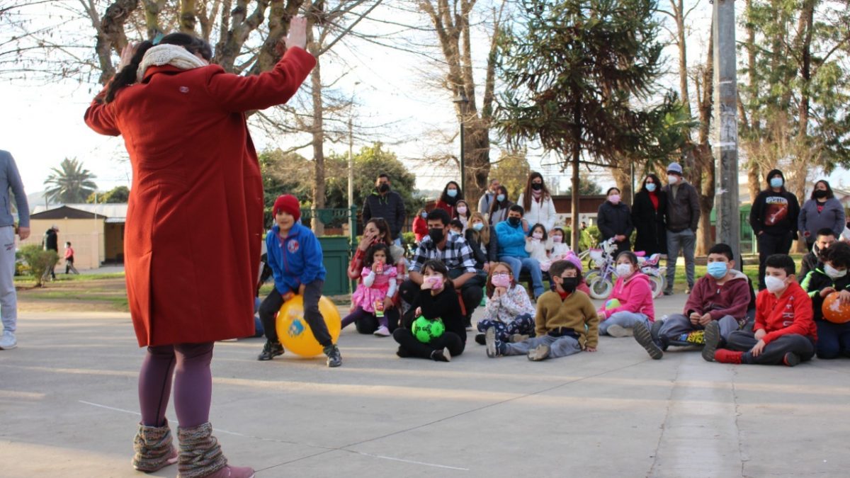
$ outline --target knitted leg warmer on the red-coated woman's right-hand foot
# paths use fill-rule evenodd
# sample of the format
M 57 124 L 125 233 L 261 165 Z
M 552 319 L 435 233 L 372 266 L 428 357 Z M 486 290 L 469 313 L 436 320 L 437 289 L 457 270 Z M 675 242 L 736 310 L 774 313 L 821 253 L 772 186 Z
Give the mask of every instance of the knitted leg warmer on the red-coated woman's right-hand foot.
M 177 436 L 180 441 L 178 478 L 201 478 L 227 465 L 227 458 L 218 440 L 212 436 L 209 422 L 192 428 L 177 427 Z

